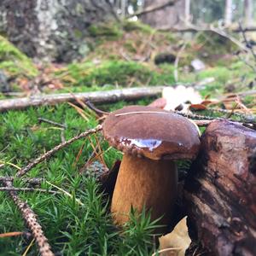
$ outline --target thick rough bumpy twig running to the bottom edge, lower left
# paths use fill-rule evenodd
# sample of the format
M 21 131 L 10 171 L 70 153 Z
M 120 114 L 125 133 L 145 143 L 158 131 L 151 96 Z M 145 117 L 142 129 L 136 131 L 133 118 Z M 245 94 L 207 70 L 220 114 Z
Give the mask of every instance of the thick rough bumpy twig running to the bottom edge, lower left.
M 5 185 L 12 188 L 11 182 L 6 182 Z M 25 220 L 28 228 L 32 231 L 32 235 L 38 243 L 39 252 L 42 256 L 54 256 L 52 253 L 48 240 L 44 236 L 44 232 L 40 224 L 38 224 L 37 216 L 32 211 L 32 209 L 26 204 L 26 202 L 21 201 L 16 191 L 9 191 L 9 195 L 15 202 L 15 205 L 20 209 L 22 218 Z

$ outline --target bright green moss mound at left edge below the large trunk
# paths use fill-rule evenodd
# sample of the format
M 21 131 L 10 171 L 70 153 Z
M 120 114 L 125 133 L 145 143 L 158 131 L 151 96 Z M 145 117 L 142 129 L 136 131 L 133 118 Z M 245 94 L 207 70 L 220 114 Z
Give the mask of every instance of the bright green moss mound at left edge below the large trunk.
M 12 75 L 36 76 L 38 70 L 32 61 L 7 39 L 0 36 L 0 68 Z

